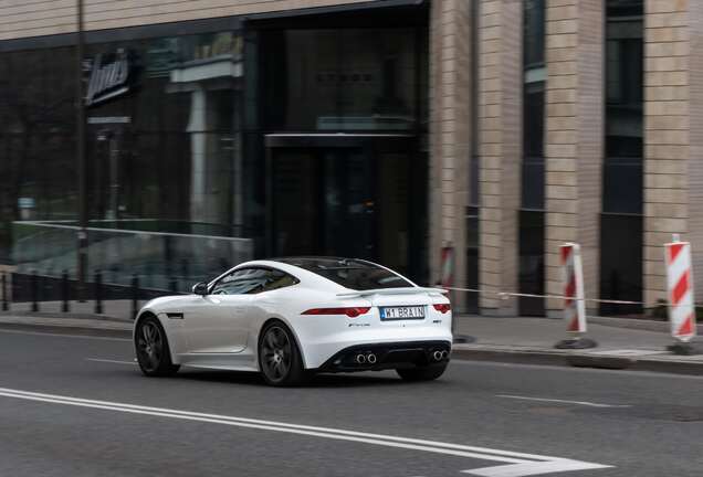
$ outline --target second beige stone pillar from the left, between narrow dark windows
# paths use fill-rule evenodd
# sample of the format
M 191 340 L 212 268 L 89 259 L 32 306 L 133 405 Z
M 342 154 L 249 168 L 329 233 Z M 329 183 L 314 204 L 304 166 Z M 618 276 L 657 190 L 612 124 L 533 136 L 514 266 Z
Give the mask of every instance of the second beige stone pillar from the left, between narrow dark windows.
M 491 292 L 517 289 L 522 155 L 522 2 L 481 0 L 479 12 L 480 307 L 516 312 Z

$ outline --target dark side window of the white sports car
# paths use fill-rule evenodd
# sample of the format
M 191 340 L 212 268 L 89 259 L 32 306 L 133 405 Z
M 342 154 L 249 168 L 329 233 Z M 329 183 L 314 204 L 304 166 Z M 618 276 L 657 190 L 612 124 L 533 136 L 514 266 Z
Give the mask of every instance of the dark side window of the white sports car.
M 220 278 L 211 295 L 254 295 L 295 285 L 298 280 L 281 271 L 269 268 L 240 268 Z

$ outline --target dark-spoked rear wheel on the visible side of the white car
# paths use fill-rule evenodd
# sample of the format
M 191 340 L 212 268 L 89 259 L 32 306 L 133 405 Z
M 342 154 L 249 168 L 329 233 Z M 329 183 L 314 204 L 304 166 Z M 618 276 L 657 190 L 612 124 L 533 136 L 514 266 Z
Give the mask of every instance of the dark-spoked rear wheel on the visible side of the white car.
M 305 370 L 293 332 L 281 321 L 270 321 L 261 330 L 258 354 L 259 369 L 266 384 L 303 385 L 312 377 Z

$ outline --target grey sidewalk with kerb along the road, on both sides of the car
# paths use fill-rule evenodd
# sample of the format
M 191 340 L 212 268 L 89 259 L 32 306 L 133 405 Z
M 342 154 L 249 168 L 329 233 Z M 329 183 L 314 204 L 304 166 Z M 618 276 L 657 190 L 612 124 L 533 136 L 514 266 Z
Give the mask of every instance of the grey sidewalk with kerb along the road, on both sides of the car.
M 127 309 L 123 303 L 122 309 Z M 115 307 L 113 309 L 118 309 Z M 21 329 L 70 335 L 99 335 L 130 338 L 133 321 L 126 317 L 93 315 L 87 306 L 72 308 L 77 312 L 61 314 L 42 308 L 40 314 L 27 310 L 0 312 L 1 329 Z M 592 318 L 587 337 L 597 348 L 557 350 L 554 344 L 566 338 L 564 321 L 548 318 L 455 317 L 457 337 L 470 337 L 468 343 L 455 343 L 453 356 L 466 360 L 508 363 L 580 365 L 607 369 L 631 369 L 703 375 L 703 354 L 676 356 L 667 351 L 673 340 L 667 322 L 637 322 L 632 319 Z M 596 322 L 594 322 L 596 321 Z M 637 327 L 637 328 L 633 328 Z M 638 329 L 638 328 L 650 328 Z M 699 327 L 700 329 L 701 327 Z M 700 339 L 699 339 L 700 344 Z

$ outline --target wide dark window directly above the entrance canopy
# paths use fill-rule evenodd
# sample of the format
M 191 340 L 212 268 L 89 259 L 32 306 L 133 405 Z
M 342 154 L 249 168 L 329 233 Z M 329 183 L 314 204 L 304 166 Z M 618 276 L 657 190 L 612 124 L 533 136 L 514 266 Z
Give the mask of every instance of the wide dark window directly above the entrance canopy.
M 295 131 L 408 131 L 418 125 L 412 28 L 266 33 L 264 126 Z

